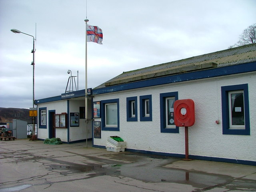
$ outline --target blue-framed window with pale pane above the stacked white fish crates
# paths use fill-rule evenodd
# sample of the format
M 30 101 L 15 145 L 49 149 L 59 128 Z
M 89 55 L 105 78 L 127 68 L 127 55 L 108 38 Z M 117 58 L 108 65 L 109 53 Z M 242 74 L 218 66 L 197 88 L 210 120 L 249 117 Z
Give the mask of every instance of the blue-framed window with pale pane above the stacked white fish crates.
M 102 131 L 119 131 L 119 99 L 102 100 L 100 105 Z

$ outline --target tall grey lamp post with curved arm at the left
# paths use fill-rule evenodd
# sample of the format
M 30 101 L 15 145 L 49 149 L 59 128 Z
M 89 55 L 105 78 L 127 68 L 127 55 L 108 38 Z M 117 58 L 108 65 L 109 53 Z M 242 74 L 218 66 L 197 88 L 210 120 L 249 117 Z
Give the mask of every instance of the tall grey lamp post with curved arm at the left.
M 14 33 L 23 33 L 17 29 L 11 29 L 11 32 L 14 32 Z M 31 36 L 33 37 L 33 50 L 31 51 L 31 53 L 33 53 L 33 61 L 31 63 L 31 65 L 33 66 L 33 108 L 35 107 L 35 38 L 34 36 L 32 35 L 29 35 L 29 34 L 26 34 L 26 33 L 23 33 L 25 35 L 28 35 L 28 36 Z M 32 133 L 32 141 L 34 141 L 36 138 L 35 138 L 35 117 L 32 116 L 32 121 L 33 121 L 33 133 Z

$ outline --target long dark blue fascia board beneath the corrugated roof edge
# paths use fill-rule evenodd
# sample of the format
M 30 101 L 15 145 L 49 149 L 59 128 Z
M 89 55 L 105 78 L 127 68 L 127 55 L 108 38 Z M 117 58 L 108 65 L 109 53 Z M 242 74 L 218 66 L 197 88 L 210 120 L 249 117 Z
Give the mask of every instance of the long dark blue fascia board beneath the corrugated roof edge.
M 199 80 L 205 78 L 213 78 L 219 76 L 226 76 L 232 74 L 240 74 L 246 72 L 253 72 L 256 71 L 256 62 L 245 63 L 245 64 L 238 64 L 202 71 L 195 71 L 195 72 L 188 72 L 184 74 L 177 74 L 172 76 L 164 76 L 154 79 L 142 80 L 139 82 L 130 82 L 126 84 L 120 84 L 115 86 L 109 86 L 100 89 L 94 89 L 93 95 L 97 94 L 104 94 L 104 93 L 111 93 L 117 91 L 124 91 L 136 88 L 144 88 L 149 86 L 157 86 L 169 83 L 176 83 L 176 82 L 185 82 L 190 80 Z

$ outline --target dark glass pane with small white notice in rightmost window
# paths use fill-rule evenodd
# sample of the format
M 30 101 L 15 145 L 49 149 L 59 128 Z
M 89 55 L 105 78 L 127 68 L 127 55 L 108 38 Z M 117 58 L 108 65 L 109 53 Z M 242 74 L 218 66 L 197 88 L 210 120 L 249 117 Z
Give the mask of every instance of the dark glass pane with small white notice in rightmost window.
M 232 125 L 244 125 L 244 94 L 232 93 L 230 99 Z

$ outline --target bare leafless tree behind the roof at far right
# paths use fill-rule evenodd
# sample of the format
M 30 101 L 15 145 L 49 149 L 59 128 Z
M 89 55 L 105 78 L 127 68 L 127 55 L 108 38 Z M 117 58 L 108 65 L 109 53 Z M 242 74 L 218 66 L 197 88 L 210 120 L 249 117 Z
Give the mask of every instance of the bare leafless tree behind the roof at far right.
M 246 28 L 240 35 L 238 42 L 233 46 L 230 46 L 229 48 L 247 45 L 251 43 L 256 43 L 256 23 L 248 26 L 248 28 Z

